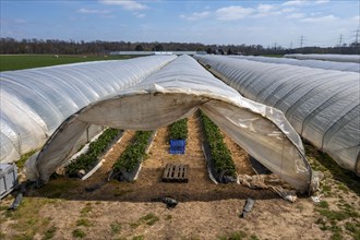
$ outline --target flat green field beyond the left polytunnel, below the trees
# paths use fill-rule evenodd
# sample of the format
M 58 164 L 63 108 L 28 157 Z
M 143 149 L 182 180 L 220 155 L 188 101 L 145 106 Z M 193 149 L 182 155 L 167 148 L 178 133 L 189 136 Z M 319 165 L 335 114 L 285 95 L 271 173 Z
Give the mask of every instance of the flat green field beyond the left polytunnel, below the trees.
M 0 56 L 0 72 L 21 70 L 21 69 L 33 69 L 48 65 L 59 65 L 75 62 L 87 62 L 98 60 L 121 60 L 129 59 L 131 56 L 108 56 L 108 57 L 96 57 L 96 56 L 67 56 L 59 55 L 56 58 L 53 55 L 1 55 Z

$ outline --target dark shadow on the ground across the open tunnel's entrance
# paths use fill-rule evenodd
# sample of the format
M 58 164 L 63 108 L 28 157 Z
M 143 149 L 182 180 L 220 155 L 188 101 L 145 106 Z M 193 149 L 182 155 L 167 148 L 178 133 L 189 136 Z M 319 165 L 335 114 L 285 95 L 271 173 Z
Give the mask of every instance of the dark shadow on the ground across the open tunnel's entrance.
M 192 175 L 203 169 L 192 169 Z M 145 176 L 140 176 L 133 182 L 99 180 L 91 184 L 80 179 L 57 177 L 41 188 L 27 190 L 28 197 L 63 199 L 71 201 L 116 201 L 116 202 L 156 202 L 170 196 L 180 202 L 209 202 L 229 199 L 255 200 L 280 199 L 271 190 L 251 190 L 237 183 L 215 184 L 206 181 L 188 183 L 161 182 L 161 169 L 146 169 Z M 148 176 L 152 176 L 149 178 Z

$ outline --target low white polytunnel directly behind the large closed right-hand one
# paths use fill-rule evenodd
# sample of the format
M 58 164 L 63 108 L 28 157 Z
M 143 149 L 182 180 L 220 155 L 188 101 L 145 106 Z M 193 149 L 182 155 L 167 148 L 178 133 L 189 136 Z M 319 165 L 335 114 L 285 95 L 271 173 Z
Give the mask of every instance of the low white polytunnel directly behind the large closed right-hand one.
M 302 65 L 312 69 L 338 70 L 345 72 L 360 73 L 360 63 L 355 62 L 334 62 L 322 60 L 298 60 L 289 58 L 269 58 L 261 56 L 229 56 L 230 58 L 245 59 L 257 62 L 279 63 L 289 65 Z

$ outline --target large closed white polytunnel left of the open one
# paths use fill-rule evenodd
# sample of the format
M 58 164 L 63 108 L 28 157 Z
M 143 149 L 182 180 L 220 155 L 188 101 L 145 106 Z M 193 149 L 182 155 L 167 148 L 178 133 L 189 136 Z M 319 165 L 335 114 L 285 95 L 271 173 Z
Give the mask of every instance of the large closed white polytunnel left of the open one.
M 139 84 L 175 56 L 96 61 L 0 73 L 0 161 L 40 147 L 69 116 Z

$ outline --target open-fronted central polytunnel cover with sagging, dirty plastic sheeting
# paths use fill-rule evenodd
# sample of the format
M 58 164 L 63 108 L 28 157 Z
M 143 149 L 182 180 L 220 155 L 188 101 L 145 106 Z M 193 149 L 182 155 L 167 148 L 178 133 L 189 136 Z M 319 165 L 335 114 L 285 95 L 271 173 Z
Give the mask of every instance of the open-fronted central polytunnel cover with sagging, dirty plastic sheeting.
M 69 117 L 39 154 L 26 161 L 27 177 L 48 181 L 74 153 L 72 145 L 89 124 L 148 131 L 187 118 L 197 109 L 273 172 L 299 191 L 311 192 L 312 170 L 301 139 L 284 115 L 243 98 L 189 56 Z

